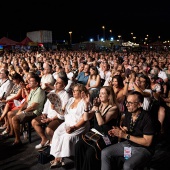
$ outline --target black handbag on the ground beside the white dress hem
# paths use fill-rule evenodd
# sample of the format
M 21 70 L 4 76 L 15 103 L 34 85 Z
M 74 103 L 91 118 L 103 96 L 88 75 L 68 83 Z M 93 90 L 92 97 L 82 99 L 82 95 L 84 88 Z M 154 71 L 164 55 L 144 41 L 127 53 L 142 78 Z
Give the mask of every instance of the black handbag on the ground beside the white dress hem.
M 50 162 L 52 159 L 54 159 L 54 157 L 52 155 L 50 155 L 50 146 L 47 146 L 41 150 L 39 150 L 39 154 L 38 154 L 38 163 L 40 164 L 46 164 L 48 162 Z

